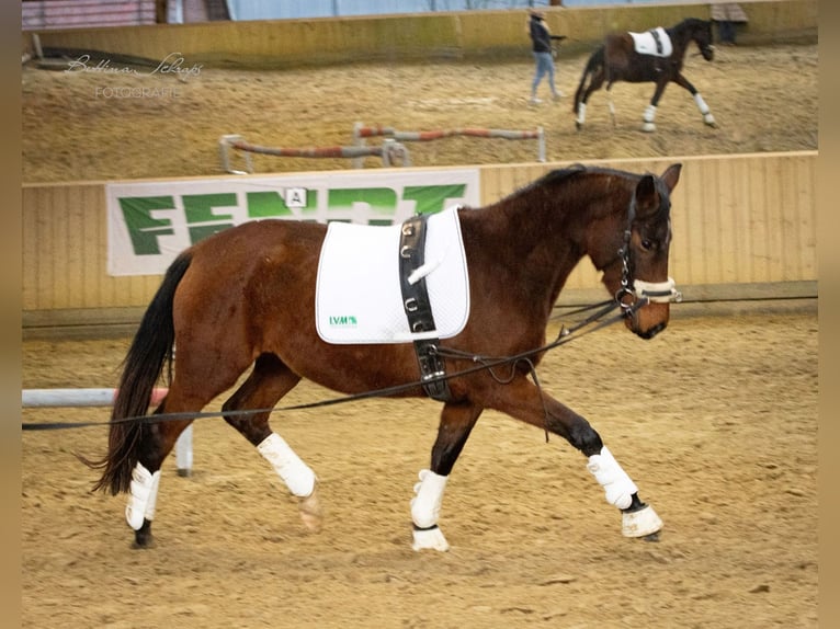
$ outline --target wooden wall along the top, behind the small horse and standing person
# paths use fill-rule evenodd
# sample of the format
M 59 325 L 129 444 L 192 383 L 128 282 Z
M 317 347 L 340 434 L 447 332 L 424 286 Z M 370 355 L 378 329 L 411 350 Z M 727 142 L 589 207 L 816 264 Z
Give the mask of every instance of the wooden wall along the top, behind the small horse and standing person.
M 746 0 L 749 23 L 739 43 L 817 41 L 819 0 Z M 591 49 L 612 30 L 646 31 L 684 18 L 711 16 L 708 2 L 548 8 L 553 33 L 567 35 L 561 53 Z M 33 54 L 42 48 L 104 52 L 162 60 L 172 53 L 190 64 L 268 65 L 274 68 L 364 60 L 521 57 L 530 44 L 524 10 L 435 12 L 310 20 L 264 20 L 72 28 L 22 33 Z

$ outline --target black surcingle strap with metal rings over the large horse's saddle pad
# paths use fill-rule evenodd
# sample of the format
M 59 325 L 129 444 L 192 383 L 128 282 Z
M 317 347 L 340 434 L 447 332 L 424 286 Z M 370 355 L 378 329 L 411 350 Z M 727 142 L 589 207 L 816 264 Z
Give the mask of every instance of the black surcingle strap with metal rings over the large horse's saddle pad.
M 438 329 L 432 316 L 425 277 L 416 278 L 413 283 L 409 281 L 425 259 L 425 219 L 427 216 L 418 215 L 406 220 L 399 239 L 399 287 L 402 291 L 402 308 L 408 319 L 408 329 L 412 334 L 434 332 Z M 443 358 L 438 354 L 440 339 L 418 339 L 413 343 L 423 390 L 434 400 L 449 401 L 449 382 L 445 379 L 435 379 L 446 375 Z

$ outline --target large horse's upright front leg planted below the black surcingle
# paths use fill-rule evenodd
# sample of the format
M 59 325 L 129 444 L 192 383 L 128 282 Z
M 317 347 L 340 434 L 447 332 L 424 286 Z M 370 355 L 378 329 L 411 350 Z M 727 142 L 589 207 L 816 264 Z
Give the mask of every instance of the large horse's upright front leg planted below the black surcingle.
M 449 402 L 441 412 L 438 438 L 432 447 L 431 469 L 420 470 L 411 500 L 415 550 L 449 550 L 450 545 L 438 526 L 443 491 L 450 472 L 464 449 L 484 409 L 468 402 Z

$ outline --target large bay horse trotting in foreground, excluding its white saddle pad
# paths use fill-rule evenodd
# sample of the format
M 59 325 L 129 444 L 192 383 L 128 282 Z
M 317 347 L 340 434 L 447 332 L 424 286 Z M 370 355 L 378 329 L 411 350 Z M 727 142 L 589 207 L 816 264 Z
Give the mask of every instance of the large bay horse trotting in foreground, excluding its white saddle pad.
M 469 312 L 463 330 L 434 347 L 449 368 L 449 391 L 429 469 L 411 500 L 415 550 L 449 548 L 438 526 L 444 488 L 485 409 L 567 439 L 623 514 L 623 534 L 657 535 L 661 519 L 600 435 L 545 392 L 533 369 L 560 289 L 584 256 L 603 273 L 629 331 L 650 339 L 666 328 L 677 295 L 668 276 L 670 193 L 681 168 L 655 175 L 575 165 L 490 205 L 452 209 L 463 235 Z M 245 222 L 191 245 L 167 270 L 126 354 L 107 454 L 80 457 L 101 470 L 93 491 L 128 494 L 134 547 L 152 544 L 160 468 L 179 434 L 249 367 L 222 415 L 271 464 L 314 529 L 321 518 L 317 477 L 270 426 L 274 404 L 302 378 L 351 396 L 389 387 L 398 389 L 394 397 L 429 396 L 411 342 L 336 344 L 319 336 L 314 310 L 327 235 L 318 222 Z M 504 377 L 500 368 L 475 369 L 477 361 L 518 355 L 527 359 L 509 363 Z M 144 416 L 164 368 L 168 393 Z

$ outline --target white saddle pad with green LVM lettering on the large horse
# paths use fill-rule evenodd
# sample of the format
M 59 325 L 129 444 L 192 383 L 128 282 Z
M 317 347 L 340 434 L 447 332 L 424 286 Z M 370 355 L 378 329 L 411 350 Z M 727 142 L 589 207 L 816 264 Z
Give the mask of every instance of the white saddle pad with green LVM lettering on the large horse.
M 446 339 L 469 317 L 469 277 L 457 208 L 427 222 L 425 286 L 436 331 L 412 334 L 399 288 L 400 225 L 331 222 L 321 247 L 315 323 L 328 343 L 408 343 Z

